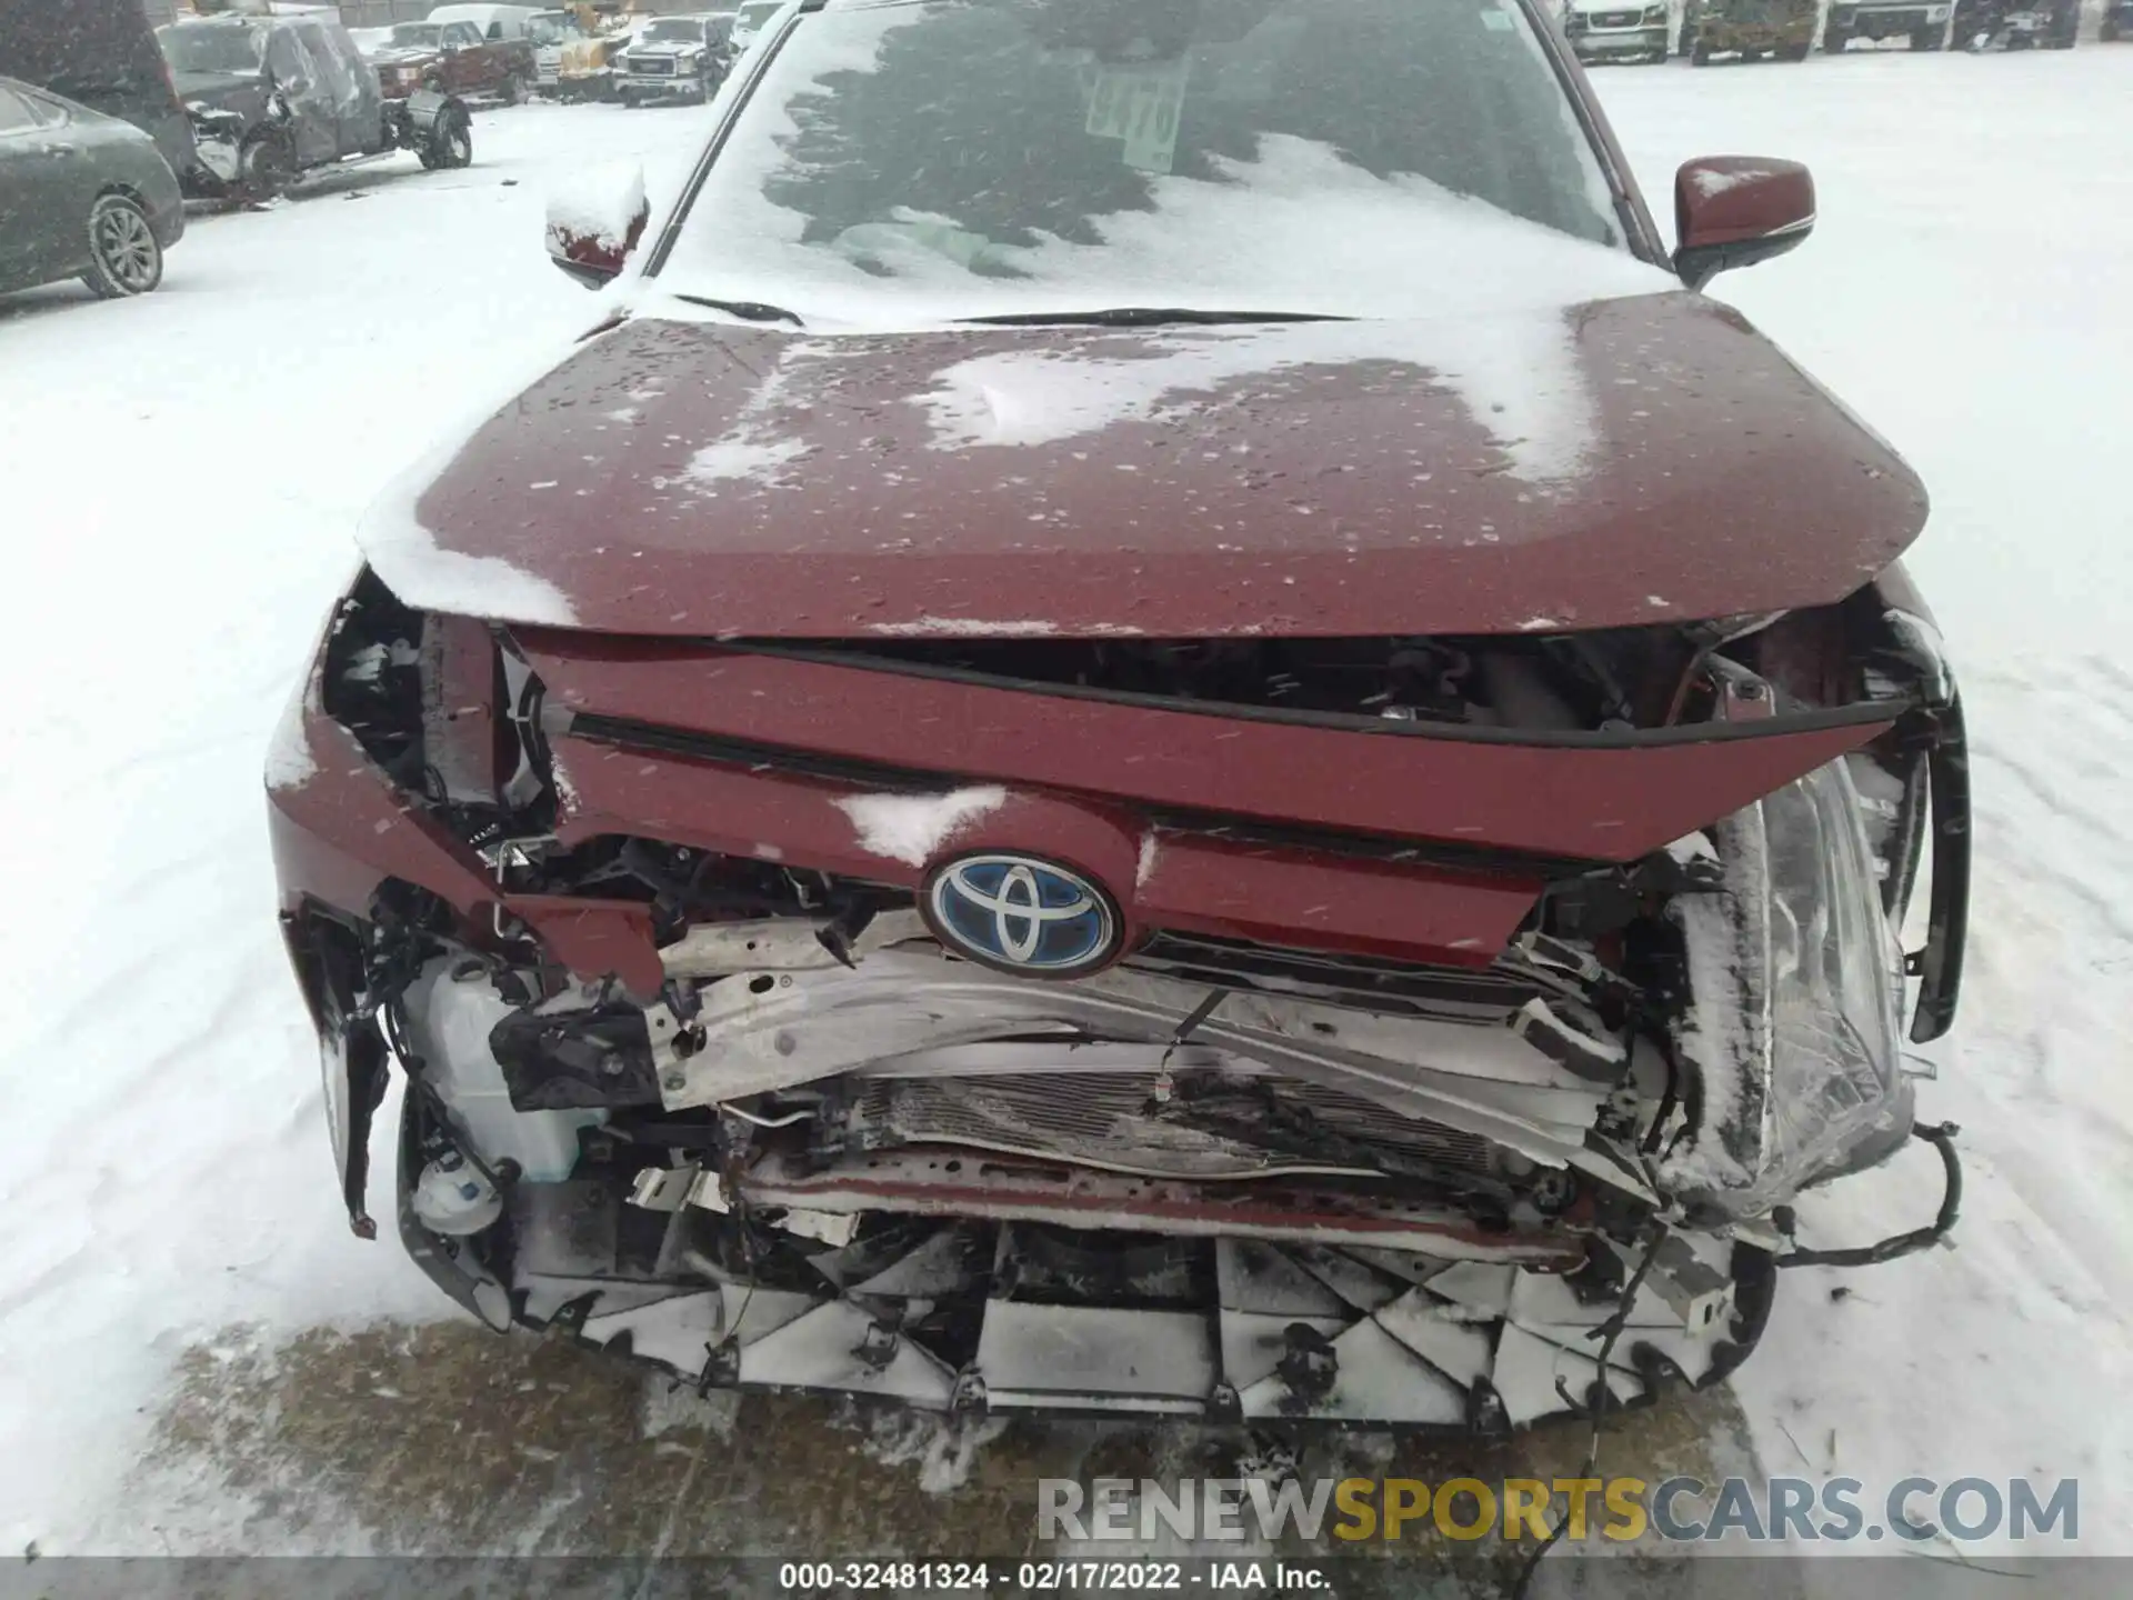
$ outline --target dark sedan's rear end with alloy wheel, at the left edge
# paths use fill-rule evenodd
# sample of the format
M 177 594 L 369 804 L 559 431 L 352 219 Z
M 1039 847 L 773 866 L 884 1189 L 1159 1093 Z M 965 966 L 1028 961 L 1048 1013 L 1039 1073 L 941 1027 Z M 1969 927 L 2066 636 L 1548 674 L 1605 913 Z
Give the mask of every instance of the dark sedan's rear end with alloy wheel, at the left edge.
M 177 175 L 128 122 L 0 77 L 0 290 L 147 294 L 186 230 Z

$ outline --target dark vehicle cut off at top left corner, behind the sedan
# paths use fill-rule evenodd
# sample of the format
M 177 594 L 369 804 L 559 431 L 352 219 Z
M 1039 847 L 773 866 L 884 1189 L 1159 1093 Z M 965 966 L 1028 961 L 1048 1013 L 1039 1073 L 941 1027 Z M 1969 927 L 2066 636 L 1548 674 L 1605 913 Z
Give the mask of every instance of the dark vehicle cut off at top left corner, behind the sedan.
M 194 164 L 192 124 L 141 0 L 0 0 L 0 77 L 130 122 L 179 177 Z

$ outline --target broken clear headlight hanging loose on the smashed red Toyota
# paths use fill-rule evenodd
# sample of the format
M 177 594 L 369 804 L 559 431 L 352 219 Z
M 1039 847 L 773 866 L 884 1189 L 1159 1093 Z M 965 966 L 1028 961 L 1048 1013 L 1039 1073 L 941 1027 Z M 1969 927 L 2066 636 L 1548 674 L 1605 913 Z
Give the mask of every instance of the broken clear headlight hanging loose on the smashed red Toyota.
M 1662 1180 L 1685 1201 L 1760 1216 L 1907 1135 L 1903 954 L 1843 762 L 1713 832 L 1726 887 L 1672 907 L 1691 996 L 1674 1043 L 1698 1116 Z

